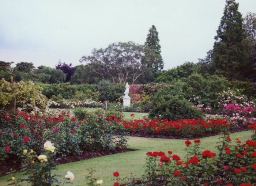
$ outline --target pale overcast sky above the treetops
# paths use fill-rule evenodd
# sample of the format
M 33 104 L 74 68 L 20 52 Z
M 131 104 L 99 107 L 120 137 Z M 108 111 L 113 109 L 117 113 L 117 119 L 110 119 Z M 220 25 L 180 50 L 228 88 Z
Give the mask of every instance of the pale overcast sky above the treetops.
M 243 16 L 256 0 L 236 0 Z M 93 48 L 159 33 L 164 69 L 212 49 L 225 0 L 0 0 L 0 61 L 79 65 Z

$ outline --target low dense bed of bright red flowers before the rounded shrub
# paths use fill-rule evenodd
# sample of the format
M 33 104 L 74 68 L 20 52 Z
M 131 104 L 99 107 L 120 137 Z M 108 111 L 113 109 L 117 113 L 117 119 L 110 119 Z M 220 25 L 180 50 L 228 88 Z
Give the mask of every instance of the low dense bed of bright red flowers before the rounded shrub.
M 205 134 L 216 134 L 229 129 L 229 123 L 225 119 L 178 119 L 175 121 L 134 119 L 123 121 L 124 128 L 131 133 L 161 134 L 176 137 L 199 137 Z

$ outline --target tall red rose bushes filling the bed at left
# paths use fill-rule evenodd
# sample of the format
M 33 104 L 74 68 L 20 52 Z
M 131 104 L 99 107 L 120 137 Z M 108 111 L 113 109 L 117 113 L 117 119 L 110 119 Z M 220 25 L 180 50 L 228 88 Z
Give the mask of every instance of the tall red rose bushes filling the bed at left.
M 23 149 L 40 153 L 42 143 L 48 140 L 58 148 L 56 156 L 127 146 L 127 129 L 121 119 L 114 115 L 107 117 L 105 113 L 89 113 L 79 120 L 64 111 L 45 114 L 0 111 L 0 122 L 1 162 L 19 163 Z

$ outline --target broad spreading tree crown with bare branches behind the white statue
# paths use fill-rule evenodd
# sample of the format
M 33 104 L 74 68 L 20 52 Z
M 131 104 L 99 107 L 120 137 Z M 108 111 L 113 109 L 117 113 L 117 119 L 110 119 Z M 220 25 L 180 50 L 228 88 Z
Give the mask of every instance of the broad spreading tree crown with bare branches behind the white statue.
M 91 56 L 83 56 L 80 62 L 89 62 L 89 67 L 102 79 L 113 83 L 134 83 L 139 76 L 147 71 L 142 64 L 143 56 L 153 55 L 142 45 L 134 42 L 118 42 L 110 44 L 106 49 L 93 49 Z

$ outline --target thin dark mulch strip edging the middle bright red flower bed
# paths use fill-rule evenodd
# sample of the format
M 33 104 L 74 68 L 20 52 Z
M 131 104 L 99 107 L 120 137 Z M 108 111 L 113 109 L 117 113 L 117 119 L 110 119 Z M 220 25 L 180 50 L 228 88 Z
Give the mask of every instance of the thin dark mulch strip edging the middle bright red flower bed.
M 230 133 L 233 132 L 241 132 L 248 130 L 247 128 L 241 128 L 238 126 L 236 129 L 231 129 L 229 130 Z M 223 134 L 223 133 L 206 133 L 206 134 L 198 134 L 193 137 L 180 137 L 180 136 L 167 136 L 163 134 L 146 134 L 143 132 L 135 132 L 135 133 L 130 133 L 129 135 L 132 137 L 151 137 L 151 138 L 163 138 L 163 139 L 183 139 L 183 140 L 193 140 L 196 138 L 202 138 L 202 137 L 208 137 L 208 136 L 216 136 L 218 134 Z

